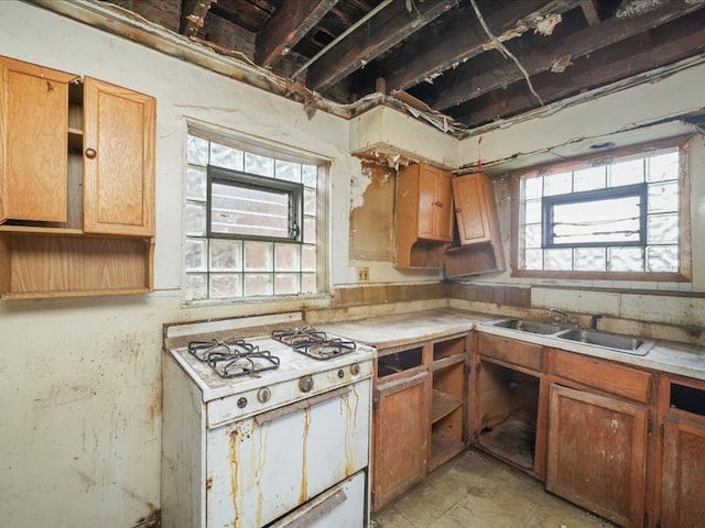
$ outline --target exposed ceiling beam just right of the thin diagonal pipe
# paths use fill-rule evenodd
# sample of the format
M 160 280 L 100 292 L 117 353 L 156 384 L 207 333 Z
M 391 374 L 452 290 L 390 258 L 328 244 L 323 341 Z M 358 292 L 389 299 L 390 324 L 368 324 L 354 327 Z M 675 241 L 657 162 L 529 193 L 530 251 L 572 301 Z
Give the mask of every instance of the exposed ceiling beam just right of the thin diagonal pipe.
M 307 85 L 314 90 L 325 90 L 356 69 L 384 53 L 390 47 L 435 20 L 460 0 L 435 0 L 414 3 L 394 1 L 382 10 L 308 69 Z

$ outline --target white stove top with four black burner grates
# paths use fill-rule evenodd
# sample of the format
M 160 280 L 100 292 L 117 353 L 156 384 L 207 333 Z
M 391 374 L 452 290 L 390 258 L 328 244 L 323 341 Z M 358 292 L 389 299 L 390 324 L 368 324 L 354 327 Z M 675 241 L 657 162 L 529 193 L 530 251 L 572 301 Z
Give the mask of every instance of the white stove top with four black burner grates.
M 372 346 L 304 324 L 243 339 L 238 328 L 224 332 L 225 327 L 239 323 L 235 321 L 187 323 L 169 330 L 172 334 L 167 338 L 188 338 L 171 346 L 167 343 L 167 351 L 198 385 L 204 402 L 234 394 L 247 396 L 263 387 L 279 395 L 283 394 L 284 386 L 292 387 L 293 399 L 304 395 L 300 382 L 307 377 L 314 378 L 314 387 L 308 393 L 314 394 L 371 375 L 371 360 L 376 354 Z M 276 397 L 262 406 L 272 404 Z M 248 398 L 252 404 L 253 399 Z M 243 411 L 252 407 L 250 404 Z

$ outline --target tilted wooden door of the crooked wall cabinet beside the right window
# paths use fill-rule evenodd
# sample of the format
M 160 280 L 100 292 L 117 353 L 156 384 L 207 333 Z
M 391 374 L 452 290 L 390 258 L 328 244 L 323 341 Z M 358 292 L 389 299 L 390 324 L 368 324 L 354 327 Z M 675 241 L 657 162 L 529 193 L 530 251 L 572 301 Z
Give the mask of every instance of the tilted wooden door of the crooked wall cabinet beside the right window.
M 495 194 L 489 185 L 486 176 L 479 173 L 453 179 L 460 244 L 477 244 L 492 240 L 490 216 L 497 216 L 497 208 Z

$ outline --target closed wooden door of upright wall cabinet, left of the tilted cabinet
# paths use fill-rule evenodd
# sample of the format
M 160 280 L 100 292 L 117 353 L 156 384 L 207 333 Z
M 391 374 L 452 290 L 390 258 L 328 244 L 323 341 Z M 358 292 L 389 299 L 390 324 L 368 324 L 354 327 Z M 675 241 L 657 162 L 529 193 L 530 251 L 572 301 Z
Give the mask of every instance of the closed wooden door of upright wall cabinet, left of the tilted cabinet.
M 419 173 L 419 238 L 453 240 L 451 174 L 422 165 Z

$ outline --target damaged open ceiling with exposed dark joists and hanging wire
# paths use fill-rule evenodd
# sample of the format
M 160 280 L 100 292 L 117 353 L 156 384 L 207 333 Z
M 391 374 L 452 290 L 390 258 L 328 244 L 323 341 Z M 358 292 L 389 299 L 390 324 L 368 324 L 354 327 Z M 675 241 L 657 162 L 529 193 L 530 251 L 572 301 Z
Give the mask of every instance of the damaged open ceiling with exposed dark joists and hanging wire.
M 460 135 L 705 58 L 705 0 L 106 3 L 276 74 L 299 100 L 381 92 Z

